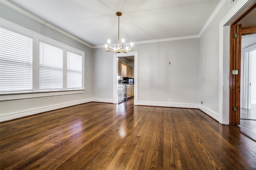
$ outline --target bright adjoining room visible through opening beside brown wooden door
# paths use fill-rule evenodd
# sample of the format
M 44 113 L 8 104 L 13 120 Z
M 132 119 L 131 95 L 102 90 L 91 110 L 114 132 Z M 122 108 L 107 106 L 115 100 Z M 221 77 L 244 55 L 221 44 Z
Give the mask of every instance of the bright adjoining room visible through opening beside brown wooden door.
M 256 34 L 246 35 L 253 38 L 254 45 L 242 48 L 241 59 L 241 108 L 240 108 L 240 130 L 248 137 L 256 141 Z M 250 38 L 249 37 L 249 38 Z M 243 38 L 242 38 L 243 40 Z M 249 40 L 244 42 L 246 45 Z M 242 46 L 243 41 L 242 41 Z M 243 78 L 243 79 L 242 79 Z

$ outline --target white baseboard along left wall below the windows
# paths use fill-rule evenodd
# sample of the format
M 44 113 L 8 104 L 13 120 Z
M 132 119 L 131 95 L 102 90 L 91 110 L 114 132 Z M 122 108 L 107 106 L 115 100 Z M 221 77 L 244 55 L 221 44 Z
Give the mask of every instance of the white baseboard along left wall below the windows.
M 7 113 L 7 114 L 0 115 L 0 122 L 8 121 L 11 119 L 16 119 L 16 118 L 20 118 L 20 117 L 24 117 L 24 116 L 34 115 L 34 114 L 42 113 L 45 111 L 51 111 L 51 110 L 55 110 L 55 109 L 61 109 L 64 107 L 88 103 L 88 102 L 92 102 L 92 99 L 80 100 L 80 101 L 76 101 L 76 102 L 64 103 L 64 104 L 59 104 L 59 105 L 54 105 L 54 106 L 40 107 L 40 108 L 36 108 L 36 109 L 17 111 L 17 112 L 13 112 L 13 113 Z

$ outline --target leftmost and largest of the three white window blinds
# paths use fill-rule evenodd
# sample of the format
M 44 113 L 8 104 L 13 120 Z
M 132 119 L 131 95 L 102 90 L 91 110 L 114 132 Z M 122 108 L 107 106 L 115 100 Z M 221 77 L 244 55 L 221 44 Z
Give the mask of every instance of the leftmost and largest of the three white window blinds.
M 0 27 L 0 91 L 32 90 L 32 43 Z

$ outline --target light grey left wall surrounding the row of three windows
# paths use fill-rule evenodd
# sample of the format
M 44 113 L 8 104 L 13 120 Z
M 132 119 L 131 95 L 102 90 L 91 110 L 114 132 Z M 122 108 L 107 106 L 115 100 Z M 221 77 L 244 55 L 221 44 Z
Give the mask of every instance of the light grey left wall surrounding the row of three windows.
M 68 94 L 64 95 L 64 98 L 60 96 L 48 96 L 20 100 L 7 100 L 0 102 L 0 121 L 14 119 L 26 115 L 40 113 L 52 109 L 58 109 L 62 107 L 72 106 L 75 104 L 90 102 L 92 99 L 92 49 L 83 45 L 74 39 L 71 39 L 57 31 L 46 27 L 31 18 L 26 17 L 23 14 L 1 4 L 0 5 L 1 18 L 11 21 L 17 25 L 30 29 L 36 33 L 79 49 L 85 52 L 84 59 L 84 87 L 85 92 L 80 94 Z

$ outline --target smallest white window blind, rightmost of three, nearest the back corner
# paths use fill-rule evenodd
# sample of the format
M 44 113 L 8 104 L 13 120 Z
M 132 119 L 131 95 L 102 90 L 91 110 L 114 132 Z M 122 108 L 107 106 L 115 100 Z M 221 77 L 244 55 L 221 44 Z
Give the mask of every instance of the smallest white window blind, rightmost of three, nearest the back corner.
M 67 88 L 82 88 L 82 55 L 68 51 Z

